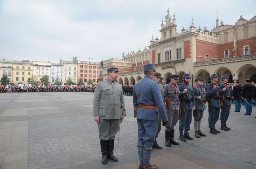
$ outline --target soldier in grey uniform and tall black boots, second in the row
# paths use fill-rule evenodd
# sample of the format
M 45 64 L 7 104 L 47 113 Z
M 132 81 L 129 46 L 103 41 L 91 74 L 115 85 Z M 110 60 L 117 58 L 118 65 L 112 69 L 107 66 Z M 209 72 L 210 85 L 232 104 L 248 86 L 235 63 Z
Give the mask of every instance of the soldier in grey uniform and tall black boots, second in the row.
M 165 85 L 163 89 L 163 97 L 165 98 L 165 103 L 167 107 L 167 117 L 168 122 L 167 126 L 165 127 L 165 145 L 167 147 L 171 147 L 171 144 L 180 145 L 179 142 L 174 140 L 174 126 L 178 122 L 179 118 L 179 88 L 176 84 L 179 80 L 179 75 L 171 75 L 171 82 Z

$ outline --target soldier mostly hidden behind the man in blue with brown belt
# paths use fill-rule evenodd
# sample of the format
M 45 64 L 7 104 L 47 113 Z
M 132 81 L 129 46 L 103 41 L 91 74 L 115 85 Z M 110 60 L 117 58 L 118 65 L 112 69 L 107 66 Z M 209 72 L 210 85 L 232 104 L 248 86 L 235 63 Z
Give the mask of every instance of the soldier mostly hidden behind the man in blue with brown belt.
M 162 97 L 163 97 L 163 85 L 159 83 L 160 82 L 160 78 L 161 78 L 161 73 L 156 71 L 153 80 L 158 83 L 159 89 L 160 89 Z M 156 149 L 163 149 L 163 147 L 158 145 L 157 141 L 156 141 L 156 138 L 158 138 L 158 134 L 161 131 L 161 125 L 162 125 L 162 120 L 161 120 L 161 116 L 159 116 L 158 129 L 157 129 L 155 141 L 154 141 L 154 144 L 153 144 L 153 147 L 156 148 Z

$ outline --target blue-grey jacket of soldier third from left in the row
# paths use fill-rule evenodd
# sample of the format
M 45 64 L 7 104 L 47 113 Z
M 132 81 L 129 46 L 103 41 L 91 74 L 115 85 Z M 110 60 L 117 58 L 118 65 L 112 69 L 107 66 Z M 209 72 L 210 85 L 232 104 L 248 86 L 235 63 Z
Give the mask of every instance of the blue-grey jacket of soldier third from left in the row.
M 187 92 L 183 94 L 182 91 L 184 91 L 184 88 L 187 89 Z M 191 87 L 191 85 L 189 85 L 189 84 L 186 85 L 186 84 L 182 83 L 179 85 L 179 91 L 180 91 L 179 96 L 182 97 L 182 100 L 184 100 L 184 98 L 191 99 L 190 103 L 184 102 L 184 104 L 185 104 L 184 109 L 185 110 L 193 110 L 193 107 L 195 106 L 195 99 L 194 99 L 193 88 Z

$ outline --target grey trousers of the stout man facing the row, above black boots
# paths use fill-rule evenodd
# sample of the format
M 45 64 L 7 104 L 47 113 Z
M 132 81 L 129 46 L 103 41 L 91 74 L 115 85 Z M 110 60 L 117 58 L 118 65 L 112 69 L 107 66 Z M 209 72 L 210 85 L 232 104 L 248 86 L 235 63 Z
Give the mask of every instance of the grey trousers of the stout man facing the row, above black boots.
M 98 123 L 100 140 L 115 139 L 115 135 L 118 132 L 119 125 L 120 125 L 119 119 L 105 120 L 100 118 L 100 122 Z

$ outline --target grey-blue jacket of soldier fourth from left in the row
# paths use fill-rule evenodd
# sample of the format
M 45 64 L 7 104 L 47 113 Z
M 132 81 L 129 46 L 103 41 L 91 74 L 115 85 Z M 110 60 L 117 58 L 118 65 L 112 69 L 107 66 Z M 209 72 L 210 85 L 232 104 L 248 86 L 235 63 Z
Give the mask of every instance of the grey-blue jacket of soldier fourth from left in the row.
M 206 110 L 205 102 L 202 102 L 202 103 L 197 102 L 199 96 L 201 96 L 201 99 L 203 99 L 203 100 L 206 98 L 205 88 L 203 86 L 199 87 L 198 85 L 196 85 L 196 87 L 193 88 L 193 91 L 194 91 L 196 109 L 197 110 Z

